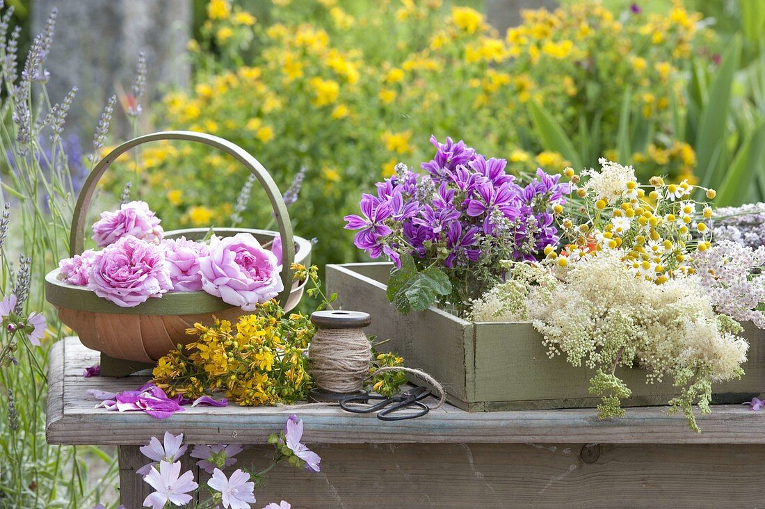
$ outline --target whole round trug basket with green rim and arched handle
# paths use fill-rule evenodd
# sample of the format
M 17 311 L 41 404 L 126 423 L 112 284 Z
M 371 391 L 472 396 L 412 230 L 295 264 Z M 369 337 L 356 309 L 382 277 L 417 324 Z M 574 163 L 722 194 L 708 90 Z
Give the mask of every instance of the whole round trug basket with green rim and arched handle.
M 269 172 L 243 148 L 217 136 L 200 132 L 168 131 L 139 136 L 114 148 L 93 168 L 88 176 L 77 206 L 74 209 L 70 233 L 70 256 L 83 253 L 88 207 L 100 178 L 119 155 L 130 148 L 158 140 L 187 140 L 218 148 L 241 162 L 255 175 L 268 194 L 278 224 L 278 231 L 252 230 L 247 228 L 215 228 L 219 237 L 236 233 L 252 233 L 260 242 L 269 242 L 277 235 L 282 238 L 282 282 L 284 290 L 278 300 L 285 310 L 295 308 L 303 295 L 305 281 L 292 281 L 293 262 L 308 265 L 311 259 L 311 243 L 295 237 L 282 194 Z M 190 240 L 203 238 L 209 228 L 172 230 L 165 238 L 184 236 Z M 59 269 L 48 272 L 45 277 L 45 296 L 54 305 L 59 318 L 80 336 L 80 341 L 102 353 L 103 374 L 127 374 L 154 364 L 177 344 L 194 341 L 186 329 L 200 322 L 210 325 L 214 318 L 236 321 L 246 314 L 222 299 L 206 292 L 168 292 L 161 299 L 148 299 L 132 308 L 122 308 L 100 298 L 92 290 L 70 285 L 58 279 Z M 104 373 L 106 367 L 107 373 Z M 111 371 L 111 373 L 109 373 Z

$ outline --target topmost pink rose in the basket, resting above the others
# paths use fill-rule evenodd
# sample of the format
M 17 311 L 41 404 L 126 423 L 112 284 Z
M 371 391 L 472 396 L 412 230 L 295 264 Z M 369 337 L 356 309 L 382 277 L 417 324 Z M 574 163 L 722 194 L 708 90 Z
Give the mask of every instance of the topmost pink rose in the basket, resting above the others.
M 102 212 L 101 219 L 93 224 L 93 240 L 99 247 L 116 243 L 122 237 L 135 237 L 158 243 L 164 231 L 145 201 L 131 201 L 114 212 Z

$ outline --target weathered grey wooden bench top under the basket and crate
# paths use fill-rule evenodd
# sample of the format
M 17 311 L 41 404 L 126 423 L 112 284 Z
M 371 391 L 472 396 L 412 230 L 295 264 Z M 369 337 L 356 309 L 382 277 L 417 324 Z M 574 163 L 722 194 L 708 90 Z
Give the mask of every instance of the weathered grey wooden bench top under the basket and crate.
M 765 444 L 765 413 L 748 406 L 715 406 L 711 416 L 698 419 L 702 433 L 688 430 L 682 416 L 669 416 L 665 407 L 628 409 L 627 416 L 599 421 L 593 409 L 519 410 L 467 413 L 451 405 L 420 419 L 384 423 L 374 416 L 344 413 L 337 407 L 293 406 L 190 408 L 170 419 L 152 419 L 142 413 L 117 413 L 96 409 L 86 399 L 88 389 L 134 390 L 146 375 L 124 378 L 83 378 L 83 369 L 99 354 L 83 347 L 77 338 L 56 345 L 63 358 L 61 371 L 52 356 L 50 383 L 54 390 L 48 414 L 47 437 L 51 443 L 77 445 L 135 445 L 161 436 L 166 429 L 186 433 L 190 443 L 265 443 L 270 433 L 282 429 L 286 416 L 304 419 L 309 443 L 741 443 Z M 58 369 L 58 368 L 57 368 Z M 61 396 L 55 402 L 55 391 Z

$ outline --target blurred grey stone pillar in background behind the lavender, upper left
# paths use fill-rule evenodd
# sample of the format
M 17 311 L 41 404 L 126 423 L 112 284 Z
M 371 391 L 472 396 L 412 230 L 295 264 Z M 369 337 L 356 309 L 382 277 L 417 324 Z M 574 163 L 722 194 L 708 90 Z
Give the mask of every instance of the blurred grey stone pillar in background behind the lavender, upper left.
M 190 0 L 33 0 L 35 33 L 45 26 L 52 8 L 58 9 L 53 50 L 45 67 L 50 70 L 51 100 L 58 102 L 72 86 L 80 91 L 67 124 L 83 136 L 87 149 L 96 122 L 109 96 L 116 93 L 115 135 L 129 135 L 124 114 L 126 94 L 135 76 L 138 52 L 148 63 L 147 92 L 142 103 L 161 95 L 168 86 L 190 80 L 184 57 L 190 37 Z M 148 116 L 142 116 L 147 122 Z M 146 132 L 142 126 L 142 132 Z

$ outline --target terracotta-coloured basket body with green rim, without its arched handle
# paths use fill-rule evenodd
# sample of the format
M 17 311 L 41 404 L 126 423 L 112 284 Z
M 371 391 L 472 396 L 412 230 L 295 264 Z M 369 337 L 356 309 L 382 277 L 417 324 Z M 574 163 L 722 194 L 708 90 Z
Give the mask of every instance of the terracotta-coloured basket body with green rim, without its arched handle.
M 165 233 L 164 237 L 185 236 L 198 240 L 207 232 L 207 228 L 174 230 Z M 271 242 L 278 234 L 246 228 L 215 229 L 220 237 L 240 232 L 252 233 L 261 243 Z M 311 243 L 301 237 L 294 239 L 295 263 L 308 266 Z M 187 335 L 186 329 L 194 327 L 195 323 L 212 325 L 215 318 L 236 321 L 247 314 L 205 292 L 169 292 L 133 308 L 121 308 L 92 290 L 60 281 L 58 275 L 59 269 L 56 269 L 45 276 L 45 294 L 47 301 L 57 308 L 60 320 L 80 336 L 86 347 L 125 361 L 154 363 L 177 344 L 194 341 L 194 336 Z M 298 305 L 305 284 L 306 281 L 301 281 L 292 285 L 283 305 L 285 311 Z

